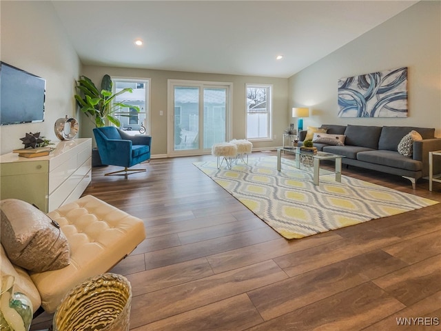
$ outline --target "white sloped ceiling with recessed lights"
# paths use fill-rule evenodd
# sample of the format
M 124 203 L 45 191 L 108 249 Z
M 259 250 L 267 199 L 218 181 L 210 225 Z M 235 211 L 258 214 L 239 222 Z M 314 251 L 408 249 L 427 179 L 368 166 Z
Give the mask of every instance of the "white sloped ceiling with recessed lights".
M 285 78 L 417 2 L 52 1 L 85 65 Z

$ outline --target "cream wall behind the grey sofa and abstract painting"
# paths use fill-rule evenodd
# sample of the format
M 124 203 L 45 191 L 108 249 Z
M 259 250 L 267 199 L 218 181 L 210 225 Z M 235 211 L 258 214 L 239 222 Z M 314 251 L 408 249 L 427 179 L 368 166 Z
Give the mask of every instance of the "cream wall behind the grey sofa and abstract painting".
M 304 127 L 420 126 L 441 137 L 441 2 L 420 1 L 289 79 L 289 106 L 310 106 Z M 350 27 L 348 27 L 350 28 Z M 337 117 L 337 81 L 408 67 L 407 118 Z

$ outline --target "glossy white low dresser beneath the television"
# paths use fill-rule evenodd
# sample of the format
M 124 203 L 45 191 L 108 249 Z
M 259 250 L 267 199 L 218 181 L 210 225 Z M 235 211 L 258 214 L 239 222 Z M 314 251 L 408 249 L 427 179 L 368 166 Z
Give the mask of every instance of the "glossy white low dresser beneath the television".
M 60 141 L 46 157 L 3 154 L 0 199 L 21 199 L 49 212 L 81 197 L 92 179 L 91 170 L 90 138 Z

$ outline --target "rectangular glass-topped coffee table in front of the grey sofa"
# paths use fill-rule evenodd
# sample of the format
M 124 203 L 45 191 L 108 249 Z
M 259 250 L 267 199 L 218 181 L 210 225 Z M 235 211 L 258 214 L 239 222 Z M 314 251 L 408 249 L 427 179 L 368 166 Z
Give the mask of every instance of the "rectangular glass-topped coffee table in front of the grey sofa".
M 327 153 L 327 152 L 317 152 L 316 154 L 300 152 L 300 148 L 277 148 L 277 170 L 280 171 L 281 168 L 281 159 L 282 152 L 294 154 L 296 159 L 294 160 L 294 166 L 300 169 L 300 165 L 304 163 L 309 163 L 311 168 L 314 169 L 314 184 L 318 185 L 320 179 L 320 161 L 322 160 L 331 160 L 336 164 L 336 168 L 334 172 L 327 170 L 330 174 L 335 174 L 336 181 L 339 183 L 342 181 L 342 158 L 344 156 Z

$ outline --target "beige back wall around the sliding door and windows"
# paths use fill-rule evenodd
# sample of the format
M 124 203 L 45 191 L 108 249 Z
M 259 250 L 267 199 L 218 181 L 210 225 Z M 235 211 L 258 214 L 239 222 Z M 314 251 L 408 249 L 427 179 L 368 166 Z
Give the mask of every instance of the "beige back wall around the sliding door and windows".
M 112 77 L 150 78 L 150 114 L 152 123 L 152 154 L 167 153 L 167 80 L 188 79 L 193 81 L 219 81 L 233 83 L 232 100 L 232 138 L 245 138 L 245 83 L 273 85 L 273 141 L 253 143 L 253 148 L 271 148 L 283 144 L 283 130 L 289 126 L 286 112 L 288 109 L 288 79 L 271 77 L 238 76 L 229 74 L 204 74 L 197 72 L 179 72 L 166 70 L 146 70 L 132 68 L 111 68 L 101 66 L 83 66 L 81 74 L 92 79 L 96 86 L 101 84 L 104 74 Z M 163 116 L 159 114 L 163 111 Z M 92 123 L 83 115 L 81 137 L 92 137 Z

